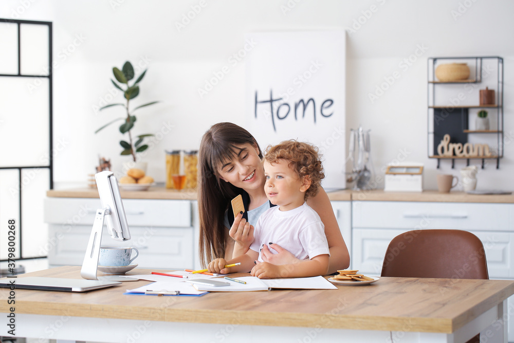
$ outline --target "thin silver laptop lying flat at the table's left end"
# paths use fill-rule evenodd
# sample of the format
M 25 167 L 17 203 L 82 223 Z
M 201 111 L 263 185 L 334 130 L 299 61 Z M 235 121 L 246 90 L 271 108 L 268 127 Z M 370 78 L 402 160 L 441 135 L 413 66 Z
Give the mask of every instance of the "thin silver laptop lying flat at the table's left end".
M 11 281 L 14 280 L 14 284 Z M 0 287 L 9 288 L 14 286 L 20 290 L 42 290 L 42 291 L 62 291 L 62 292 L 87 292 L 98 290 L 99 288 L 120 285 L 121 282 L 85 280 L 85 279 L 62 279 L 46 277 L 22 277 L 22 278 L 2 278 Z

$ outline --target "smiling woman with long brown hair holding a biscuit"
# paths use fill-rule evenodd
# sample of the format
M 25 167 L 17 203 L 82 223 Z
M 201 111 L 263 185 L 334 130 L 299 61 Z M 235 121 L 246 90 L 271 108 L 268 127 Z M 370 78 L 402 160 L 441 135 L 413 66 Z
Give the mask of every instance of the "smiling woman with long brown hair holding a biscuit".
M 253 242 L 254 225 L 259 215 L 271 205 L 264 191 L 262 151 L 255 138 L 233 123 L 217 123 L 204 134 L 198 153 L 198 212 L 200 261 L 207 265 L 215 258 L 231 259 L 248 251 Z M 245 213 L 231 215 L 230 201 L 242 194 Z M 325 226 L 330 259 L 328 273 L 350 265 L 350 256 L 337 225 L 332 205 L 321 188 L 307 200 Z M 230 227 L 230 230 L 228 229 Z M 297 259 L 277 244 L 265 245 L 263 260 L 273 264 L 294 263 Z

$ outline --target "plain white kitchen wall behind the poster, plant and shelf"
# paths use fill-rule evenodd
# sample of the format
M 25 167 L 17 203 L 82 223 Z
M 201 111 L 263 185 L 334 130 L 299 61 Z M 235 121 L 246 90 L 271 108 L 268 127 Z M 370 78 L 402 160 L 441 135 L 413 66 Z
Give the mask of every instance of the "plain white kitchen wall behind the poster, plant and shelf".
M 204 4 L 200 7 L 199 4 Z M 201 9 L 180 30 L 192 8 Z M 122 138 L 116 125 L 95 135 L 103 123 L 121 116 L 121 107 L 94 112 L 112 89 L 111 68 L 124 61 L 148 65 L 139 103 L 161 100 L 141 109 L 135 134 L 172 125 L 144 160 L 149 174 L 164 181 L 164 150 L 195 149 L 201 135 L 219 121 L 243 123 L 244 60 L 208 95 L 198 87 L 228 65 L 242 49 L 244 35 L 255 31 L 344 28 L 347 39 L 346 128 L 371 129 L 375 169 L 407 154 L 425 164 L 426 189 L 435 189 L 435 174 L 457 174 L 457 161 L 436 169 L 427 158 L 427 58 L 501 56 L 505 59 L 505 157 L 496 170 L 490 163 L 479 175 L 478 188 L 514 188 L 514 2 L 510 0 L 320 1 L 37 1 L 3 0 L 0 17 L 53 22 L 54 180 L 57 187 L 83 184 L 94 172 L 98 155 L 110 157 L 113 168 Z M 360 24 L 359 24 L 360 22 Z M 421 47 L 421 48 L 420 48 Z M 418 57 L 411 56 L 418 53 Z M 415 61 L 405 67 L 404 59 Z M 370 101 L 384 77 L 401 77 L 378 100 Z M 120 99 L 120 98 L 118 98 Z M 135 101 L 136 102 L 136 101 Z M 266 142 L 261 142 L 265 146 Z M 3 148 L 5 149 L 5 147 Z M 345 158 L 346 152 L 340 152 Z M 478 162 L 478 161 L 472 161 Z

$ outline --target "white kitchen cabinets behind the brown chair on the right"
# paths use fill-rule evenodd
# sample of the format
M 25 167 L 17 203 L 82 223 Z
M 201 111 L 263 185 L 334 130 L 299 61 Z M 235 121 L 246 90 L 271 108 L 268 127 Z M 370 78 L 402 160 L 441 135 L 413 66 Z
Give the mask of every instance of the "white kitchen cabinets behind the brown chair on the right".
M 379 276 L 389 242 L 398 234 L 460 229 L 482 240 L 490 279 L 514 279 L 513 214 L 512 203 L 352 201 L 352 266 L 363 274 Z M 514 308 L 514 297 L 508 298 L 508 308 Z M 511 312 L 508 335 L 514 341 Z

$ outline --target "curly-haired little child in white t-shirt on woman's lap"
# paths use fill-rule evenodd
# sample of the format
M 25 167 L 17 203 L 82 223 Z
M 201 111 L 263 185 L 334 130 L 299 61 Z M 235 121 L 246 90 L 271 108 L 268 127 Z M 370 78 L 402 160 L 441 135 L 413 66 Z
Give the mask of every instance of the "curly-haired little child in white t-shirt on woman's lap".
M 309 277 L 325 275 L 328 269 L 328 244 L 318 213 L 305 200 L 318 192 L 325 177 L 317 148 L 296 140 L 268 147 L 264 160 L 264 190 L 275 207 L 257 221 L 254 241 L 245 255 L 232 260 L 215 259 L 209 272 L 219 273 L 226 264 L 230 273 L 248 272 L 263 278 Z M 301 260 L 299 263 L 274 265 L 262 262 L 264 244 L 277 243 Z M 253 267 L 253 268 L 252 268 Z

